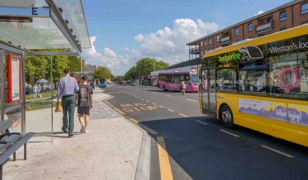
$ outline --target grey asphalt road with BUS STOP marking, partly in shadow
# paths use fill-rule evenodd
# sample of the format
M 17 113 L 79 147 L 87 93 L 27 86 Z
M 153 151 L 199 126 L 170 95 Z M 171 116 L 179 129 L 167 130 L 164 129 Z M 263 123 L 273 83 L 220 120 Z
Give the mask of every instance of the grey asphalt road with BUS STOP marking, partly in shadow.
M 151 141 L 151 179 L 161 177 L 156 136 L 164 137 L 174 179 L 308 179 L 308 148 L 243 127 L 226 129 L 200 113 L 197 93 L 104 90 L 126 117 L 158 133 Z

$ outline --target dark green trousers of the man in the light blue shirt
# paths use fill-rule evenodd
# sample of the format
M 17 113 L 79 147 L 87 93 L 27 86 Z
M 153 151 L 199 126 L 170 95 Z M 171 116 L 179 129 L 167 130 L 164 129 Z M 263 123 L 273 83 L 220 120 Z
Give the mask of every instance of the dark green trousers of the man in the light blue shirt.
M 63 109 L 62 130 L 67 131 L 68 127 L 68 134 L 72 134 L 74 130 L 74 111 L 75 111 L 74 95 L 62 96 L 62 109 Z M 67 111 L 68 111 L 68 116 L 67 116 Z

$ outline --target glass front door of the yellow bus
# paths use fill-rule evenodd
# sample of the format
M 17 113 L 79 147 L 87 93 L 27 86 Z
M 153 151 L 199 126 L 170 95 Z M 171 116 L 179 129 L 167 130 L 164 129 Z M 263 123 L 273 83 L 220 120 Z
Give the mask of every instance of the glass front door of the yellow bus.
M 201 91 L 202 112 L 216 116 L 216 75 L 215 67 L 204 67 L 201 70 Z

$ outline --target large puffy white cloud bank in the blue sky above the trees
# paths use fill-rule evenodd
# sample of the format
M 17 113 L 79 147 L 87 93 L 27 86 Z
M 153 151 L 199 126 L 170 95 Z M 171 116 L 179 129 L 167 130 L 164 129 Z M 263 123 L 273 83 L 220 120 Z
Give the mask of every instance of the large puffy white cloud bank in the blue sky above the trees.
M 119 55 L 108 47 L 104 48 L 104 53 L 98 52 L 93 45 L 96 37 L 92 36 L 90 37 L 92 48 L 84 49 L 83 56 L 87 63 L 107 66 L 114 75 L 123 75 L 142 57 L 162 59 L 170 65 L 187 61 L 186 43 L 218 29 L 219 26 L 216 23 L 203 22 L 202 19 L 197 19 L 196 22 L 192 19 L 176 19 L 171 28 L 164 27 L 155 32 L 134 36 L 134 40 L 140 42 L 140 47 L 137 49 L 119 48 L 125 51 L 124 55 Z

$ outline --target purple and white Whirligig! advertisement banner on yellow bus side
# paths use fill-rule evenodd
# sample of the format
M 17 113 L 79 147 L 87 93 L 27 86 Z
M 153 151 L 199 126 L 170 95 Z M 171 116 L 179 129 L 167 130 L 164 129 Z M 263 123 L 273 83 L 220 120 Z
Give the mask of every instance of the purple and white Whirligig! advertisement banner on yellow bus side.
M 308 106 L 239 98 L 239 112 L 308 126 Z

